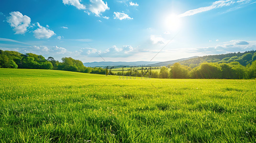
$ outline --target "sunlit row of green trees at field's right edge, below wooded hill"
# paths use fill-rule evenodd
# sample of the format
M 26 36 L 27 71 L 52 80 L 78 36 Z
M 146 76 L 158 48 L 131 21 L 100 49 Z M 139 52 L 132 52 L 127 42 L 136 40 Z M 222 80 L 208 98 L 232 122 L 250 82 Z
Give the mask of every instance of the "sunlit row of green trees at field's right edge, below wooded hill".
M 241 65 L 234 61 L 230 63 L 201 63 L 200 66 L 190 68 L 189 66 L 180 65 L 176 62 L 170 66 L 170 70 L 163 66 L 160 72 L 141 70 L 118 72 L 119 76 L 136 76 L 151 77 L 161 79 L 255 79 L 256 78 L 256 61 L 247 66 Z

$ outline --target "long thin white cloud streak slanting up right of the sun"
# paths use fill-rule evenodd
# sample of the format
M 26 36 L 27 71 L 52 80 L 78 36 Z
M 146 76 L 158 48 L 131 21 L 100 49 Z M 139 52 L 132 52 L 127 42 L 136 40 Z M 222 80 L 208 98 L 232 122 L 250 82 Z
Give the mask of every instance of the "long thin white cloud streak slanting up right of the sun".
M 179 17 L 195 15 L 197 13 L 201 13 L 201 12 L 205 12 L 205 11 L 209 11 L 209 10 L 213 10 L 213 9 L 217 9 L 217 8 L 222 8 L 222 7 L 226 7 L 226 6 L 230 6 L 230 5 L 233 5 L 234 3 L 245 3 L 245 1 L 248 2 L 248 1 L 251 1 L 251 0 L 237 0 L 237 1 L 218 0 L 218 1 L 214 1 L 210 6 L 201 7 L 201 8 L 194 9 L 194 10 L 188 10 L 188 11 L 180 14 Z

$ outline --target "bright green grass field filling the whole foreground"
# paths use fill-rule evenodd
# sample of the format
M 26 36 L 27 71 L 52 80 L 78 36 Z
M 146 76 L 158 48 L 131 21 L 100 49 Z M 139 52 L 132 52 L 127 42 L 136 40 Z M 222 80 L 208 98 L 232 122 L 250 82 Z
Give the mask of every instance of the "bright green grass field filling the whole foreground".
M 256 142 L 256 80 L 0 69 L 0 142 Z

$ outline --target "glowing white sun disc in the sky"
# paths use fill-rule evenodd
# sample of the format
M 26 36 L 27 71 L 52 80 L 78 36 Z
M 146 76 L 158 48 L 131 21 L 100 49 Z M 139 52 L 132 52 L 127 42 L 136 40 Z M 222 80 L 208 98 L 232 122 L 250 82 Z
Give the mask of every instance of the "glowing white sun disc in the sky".
M 181 19 L 176 14 L 168 15 L 165 19 L 165 25 L 169 31 L 178 31 L 181 27 L 181 24 Z

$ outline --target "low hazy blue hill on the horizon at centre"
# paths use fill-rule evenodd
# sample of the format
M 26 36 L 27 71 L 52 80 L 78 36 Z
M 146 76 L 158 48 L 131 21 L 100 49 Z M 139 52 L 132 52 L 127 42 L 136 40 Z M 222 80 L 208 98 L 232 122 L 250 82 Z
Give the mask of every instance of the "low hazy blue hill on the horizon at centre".
M 125 62 L 125 61 L 101 61 L 101 62 L 86 62 L 84 66 L 86 67 L 105 67 L 105 66 L 142 66 L 148 64 L 154 64 L 159 61 L 133 61 L 133 62 Z

